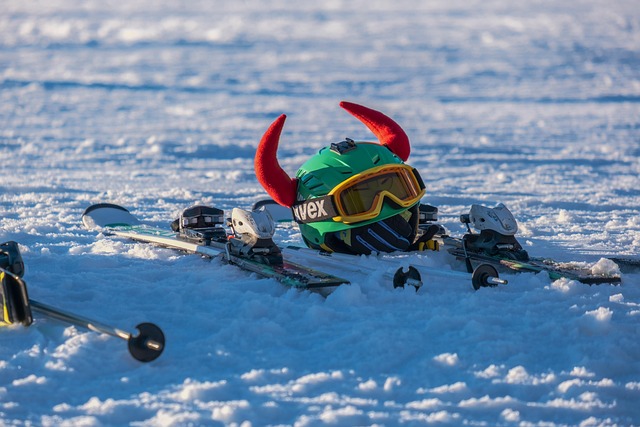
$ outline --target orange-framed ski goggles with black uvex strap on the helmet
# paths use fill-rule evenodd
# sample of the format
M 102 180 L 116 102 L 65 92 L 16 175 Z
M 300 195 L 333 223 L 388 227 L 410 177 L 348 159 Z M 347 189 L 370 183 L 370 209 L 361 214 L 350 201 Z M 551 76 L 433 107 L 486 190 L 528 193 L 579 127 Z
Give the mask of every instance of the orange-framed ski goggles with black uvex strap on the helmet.
M 354 175 L 323 197 L 293 205 L 299 223 L 332 219 L 346 224 L 376 218 L 385 200 L 408 208 L 420 201 L 425 185 L 417 170 L 405 164 L 384 165 Z

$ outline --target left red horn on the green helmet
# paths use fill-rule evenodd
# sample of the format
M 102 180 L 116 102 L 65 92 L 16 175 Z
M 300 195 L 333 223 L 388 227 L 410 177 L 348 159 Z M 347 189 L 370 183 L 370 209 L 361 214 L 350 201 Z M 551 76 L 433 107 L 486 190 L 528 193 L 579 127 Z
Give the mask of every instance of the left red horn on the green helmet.
M 284 121 L 284 114 L 278 117 L 260 140 L 256 150 L 254 168 L 258 182 L 278 204 L 290 208 L 296 201 L 297 181 L 280 167 L 276 152 Z

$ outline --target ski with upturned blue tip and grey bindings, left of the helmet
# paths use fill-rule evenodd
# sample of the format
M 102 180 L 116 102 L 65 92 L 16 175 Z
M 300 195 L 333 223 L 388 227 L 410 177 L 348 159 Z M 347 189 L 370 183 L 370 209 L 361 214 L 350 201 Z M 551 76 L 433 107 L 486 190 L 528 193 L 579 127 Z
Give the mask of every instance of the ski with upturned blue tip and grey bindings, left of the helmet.
M 234 235 L 231 236 L 221 226 L 224 212 L 206 206 L 185 210 L 171 228 L 145 224 L 126 208 L 110 203 L 89 206 L 82 222 L 86 228 L 105 234 L 221 259 L 292 288 L 326 292 L 349 284 L 340 277 L 285 259 L 271 239 L 274 229 L 273 222 L 269 224 L 270 218 L 247 214 L 234 209 L 230 223 Z

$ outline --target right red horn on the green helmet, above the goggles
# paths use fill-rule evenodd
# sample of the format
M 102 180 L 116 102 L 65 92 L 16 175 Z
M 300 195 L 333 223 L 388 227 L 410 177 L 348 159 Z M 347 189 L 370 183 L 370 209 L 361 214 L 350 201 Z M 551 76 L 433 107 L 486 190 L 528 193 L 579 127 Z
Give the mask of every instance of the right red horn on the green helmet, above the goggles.
M 380 144 L 386 146 L 403 161 L 407 161 L 411 153 L 409 137 L 399 124 L 380 111 L 362 105 L 342 101 L 340 106 L 364 123 L 378 138 Z

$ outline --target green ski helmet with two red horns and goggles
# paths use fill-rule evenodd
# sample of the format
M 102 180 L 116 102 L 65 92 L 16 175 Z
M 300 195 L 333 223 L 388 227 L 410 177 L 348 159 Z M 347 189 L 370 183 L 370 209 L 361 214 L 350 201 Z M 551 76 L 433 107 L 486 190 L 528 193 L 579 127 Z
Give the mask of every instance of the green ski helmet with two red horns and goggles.
M 292 208 L 312 248 L 348 253 L 404 250 L 415 237 L 424 194 L 419 174 L 404 163 L 408 138 L 378 111 L 346 102 L 341 106 L 363 121 L 380 143 L 347 139 L 331 144 L 291 179 L 275 157 L 283 115 L 258 147 L 258 180 L 276 202 Z

